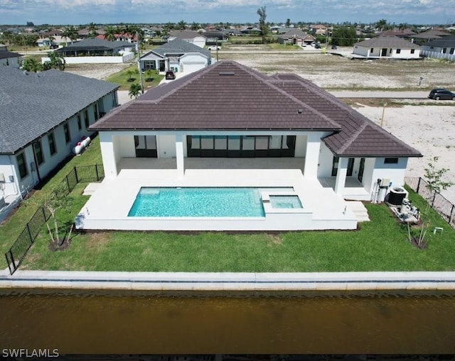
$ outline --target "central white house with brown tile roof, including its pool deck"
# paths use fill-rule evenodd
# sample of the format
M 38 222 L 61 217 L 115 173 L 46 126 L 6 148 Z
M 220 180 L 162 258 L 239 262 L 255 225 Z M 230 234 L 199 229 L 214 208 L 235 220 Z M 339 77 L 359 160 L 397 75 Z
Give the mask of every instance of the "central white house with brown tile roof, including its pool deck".
M 308 80 L 232 61 L 150 89 L 90 130 L 106 178 L 77 217 L 89 229 L 353 229 L 345 199 L 377 199 L 378 179 L 402 186 L 408 158 L 422 157 Z M 141 187 L 188 184 L 287 187 L 304 209 L 260 221 L 127 216 Z M 122 196 L 109 199 L 114 189 Z

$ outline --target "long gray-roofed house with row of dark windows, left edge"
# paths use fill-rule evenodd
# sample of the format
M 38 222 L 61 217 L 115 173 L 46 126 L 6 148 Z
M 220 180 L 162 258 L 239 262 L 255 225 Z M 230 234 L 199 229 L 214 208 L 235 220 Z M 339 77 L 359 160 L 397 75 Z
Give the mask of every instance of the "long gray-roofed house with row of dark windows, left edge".
M 48 70 L 0 67 L 0 218 L 117 106 L 117 84 Z M 11 205 L 11 206 L 9 206 Z M 3 206 L 3 207 L 2 207 Z

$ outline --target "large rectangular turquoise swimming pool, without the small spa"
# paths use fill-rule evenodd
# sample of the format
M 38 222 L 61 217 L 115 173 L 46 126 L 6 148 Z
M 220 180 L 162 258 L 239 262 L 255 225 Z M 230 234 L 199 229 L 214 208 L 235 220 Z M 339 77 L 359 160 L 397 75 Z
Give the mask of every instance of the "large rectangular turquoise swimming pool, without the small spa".
M 142 187 L 129 217 L 264 217 L 257 188 Z

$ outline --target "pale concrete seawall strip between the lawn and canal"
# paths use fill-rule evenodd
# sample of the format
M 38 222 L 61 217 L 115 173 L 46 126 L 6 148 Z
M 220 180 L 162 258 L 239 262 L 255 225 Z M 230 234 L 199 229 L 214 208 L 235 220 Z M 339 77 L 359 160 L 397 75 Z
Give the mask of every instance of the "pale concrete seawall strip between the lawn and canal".
M 150 291 L 454 290 L 455 272 L 0 272 L 0 288 Z

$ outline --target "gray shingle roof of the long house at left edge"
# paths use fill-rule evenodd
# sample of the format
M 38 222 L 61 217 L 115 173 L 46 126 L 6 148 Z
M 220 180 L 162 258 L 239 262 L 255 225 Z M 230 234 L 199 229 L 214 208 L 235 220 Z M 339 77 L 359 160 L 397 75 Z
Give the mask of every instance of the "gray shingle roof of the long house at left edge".
M 0 67 L 0 153 L 11 154 L 118 88 L 117 84 L 48 70 Z

